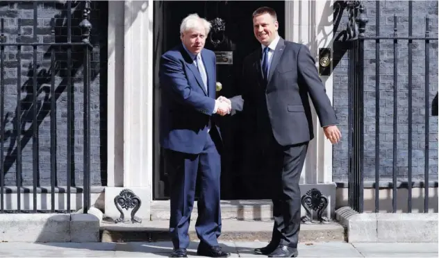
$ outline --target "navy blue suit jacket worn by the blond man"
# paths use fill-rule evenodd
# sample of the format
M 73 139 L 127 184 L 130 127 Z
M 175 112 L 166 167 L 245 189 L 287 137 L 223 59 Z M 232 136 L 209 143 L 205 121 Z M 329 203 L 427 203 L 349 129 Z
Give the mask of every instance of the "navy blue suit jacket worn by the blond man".
M 216 59 L 208 49 L 201 51 L 208 90 L 194 60 L 179 44 L 160 58 L 160 144 L 182 153 L 201 153 L 215 107 Z M 211 129 L 218 128 L 212 124 Z M 219 132 L 219 131 L 218 131 Z

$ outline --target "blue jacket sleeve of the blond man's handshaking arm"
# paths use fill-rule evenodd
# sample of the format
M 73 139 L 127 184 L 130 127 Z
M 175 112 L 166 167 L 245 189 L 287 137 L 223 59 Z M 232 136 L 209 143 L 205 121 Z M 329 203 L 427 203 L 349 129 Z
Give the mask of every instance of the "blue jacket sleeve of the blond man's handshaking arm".
M 179 60 L 171 55 L 162 55 L 159 74 L 161 87 L 169 92 L 175 101 L 190 105 L 203 114 L 213 114 L 215 99 L 192 90 L 183 71 L 183 64 Z

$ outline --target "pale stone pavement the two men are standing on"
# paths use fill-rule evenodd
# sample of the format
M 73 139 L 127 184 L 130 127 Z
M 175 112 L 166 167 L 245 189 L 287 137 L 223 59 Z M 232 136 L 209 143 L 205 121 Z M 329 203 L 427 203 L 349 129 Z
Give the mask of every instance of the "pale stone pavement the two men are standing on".
M 267 243 L 221 242 L 231 257 L 254 255 L 254 248 Z M 191 242 L 189 257 L 198 257 L 197 242 Z M 299 243 L 299 257 L 438 257 L 438 243 Z M 169 257 L 172 243 L 0 243 L 0 257 Z

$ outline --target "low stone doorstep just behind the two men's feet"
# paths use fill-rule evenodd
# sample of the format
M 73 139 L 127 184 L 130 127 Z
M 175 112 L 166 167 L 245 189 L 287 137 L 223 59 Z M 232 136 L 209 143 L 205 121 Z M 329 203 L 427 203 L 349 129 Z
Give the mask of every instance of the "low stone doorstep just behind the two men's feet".
M 191 221 L 189 235 L 191 241 L 198 241 L 194 229 L 195 221 Z M 102 242 L 132 241 L 170 241 L 169 221 L 142 221 L 142 223 L 101 223 Z M 226 219 L 222 221 L 220 241 L 270 241 L 272 221 L 238 221 Z M 338 223 L 301 224 L 299 242 L 345 241 L 345 230 Z

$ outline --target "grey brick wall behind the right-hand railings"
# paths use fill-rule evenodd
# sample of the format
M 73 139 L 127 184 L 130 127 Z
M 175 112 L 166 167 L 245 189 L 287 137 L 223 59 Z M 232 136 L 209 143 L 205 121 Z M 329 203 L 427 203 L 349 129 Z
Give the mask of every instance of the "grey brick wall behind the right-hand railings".
M 394 15 L 397 15 L 397 31 L 399 36 L 408 36 L 408 1 L 379 1 L 380 21 L 376 24 L 376 1 L 362 1 L 367 8 L 369 22 L 366 34 L 375 36 L 376 26 L 379 25 L 381 36 L 392 36 L 394 32 Z M 413 1 L 413 35 L 425 35 L 425 15 L 430 18 L 430 35 L 438 37 L 438 1 Z M 346 28 L 347 13 L 338 27 L 338 33 Z M 408 44 L 402 40 L 398 44 L 398 108 L 397 108 L 397 177 L 407 180 L 408 170 Z M 383 41 L 380 45 L 380 178 L 391 180 L 393 156 L 393 42 Z M 374 181 L 375 175 L 375 42 L 365 44 L 365 181 Z M 413 180 L 424 179 L 424 132 L 425 132 L 425 104 L 424 104 L 424 41 L 413 42 Z M 431 103 L 438 92 L 438 41 L 430 43 L 429 69 L 429 174 L 430 180 L 438 179 L 438 117 L 431 117 Z M 333 181 L 346 182 L 348 171 L 347 160 L 347 112 L 348 112 L 348 59 L 343 55 L 333 71 L 333 105 L 340 119 L 342 133 L 345 135 L 342 142 L 333 149 Z

